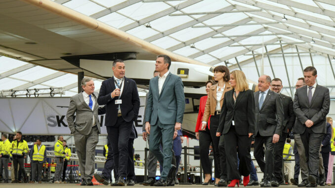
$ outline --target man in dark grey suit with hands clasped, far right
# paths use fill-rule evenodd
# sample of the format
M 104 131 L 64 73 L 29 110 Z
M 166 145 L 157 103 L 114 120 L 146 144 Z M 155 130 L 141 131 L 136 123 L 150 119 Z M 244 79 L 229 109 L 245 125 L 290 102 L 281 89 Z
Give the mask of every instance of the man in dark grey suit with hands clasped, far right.
M 329 89 L 316 83 L 317 71 L 306 67 L 303 71 L 306 86 L 296 89 L 293 109 L 297 120 L 294 131 L 299 133 L 308 160 L 307 187 L 317 187 L 319 150 L 326 133 L 326 115 L 329 113 Z

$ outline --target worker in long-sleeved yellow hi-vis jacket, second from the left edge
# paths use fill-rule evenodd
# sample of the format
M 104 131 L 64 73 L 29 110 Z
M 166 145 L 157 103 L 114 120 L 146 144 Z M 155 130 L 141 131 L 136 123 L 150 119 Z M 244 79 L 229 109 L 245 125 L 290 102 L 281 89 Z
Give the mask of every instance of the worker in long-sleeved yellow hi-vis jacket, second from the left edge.
M 18 181 L 18 164 L 20 165 L 20 170 L 23 173 L 24 182 L 27 183 L 27 174 L 24 169 L 24 159 L 27 158 L 29 153 L 28 144 L 22 139 L 22 133 L 18 131 L 16 133 L 16 140 L 12 142 L 11 153 L 13 156 L 14 163 L 14 181 L 12 183 L 19 183 Z

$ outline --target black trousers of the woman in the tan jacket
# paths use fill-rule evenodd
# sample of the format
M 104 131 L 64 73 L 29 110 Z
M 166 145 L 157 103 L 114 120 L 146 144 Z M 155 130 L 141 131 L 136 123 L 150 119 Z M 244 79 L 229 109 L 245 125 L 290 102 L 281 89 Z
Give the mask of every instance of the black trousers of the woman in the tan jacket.
M 219 117 L 220 117 L 219 115 L 210 116 L 210 130 L 209 130 L 212 144 L 213 144 L 215 178 L 220 178 L 220 175 L 222 173 L 221 164 L 220 164 L 220 154 L 219 154 L 220 137 L 216 136 L 217 127 L 219 124 Z M 225 170 L 227 171 L 227 169 Z

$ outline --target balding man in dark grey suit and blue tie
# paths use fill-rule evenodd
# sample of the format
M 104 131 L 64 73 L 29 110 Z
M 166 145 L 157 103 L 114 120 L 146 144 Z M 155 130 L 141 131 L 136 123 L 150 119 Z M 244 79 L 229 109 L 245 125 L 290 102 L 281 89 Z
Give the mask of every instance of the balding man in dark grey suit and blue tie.
M 270 76 L 261 75 L 258 78 L 259 91 L 254 92 L 256 124 L 253 156 L 264 173 L 261 187 L 271 187 L 274 145 L 279 141 L 284 119 L 282 99 L 270 90 L 270 82 Z

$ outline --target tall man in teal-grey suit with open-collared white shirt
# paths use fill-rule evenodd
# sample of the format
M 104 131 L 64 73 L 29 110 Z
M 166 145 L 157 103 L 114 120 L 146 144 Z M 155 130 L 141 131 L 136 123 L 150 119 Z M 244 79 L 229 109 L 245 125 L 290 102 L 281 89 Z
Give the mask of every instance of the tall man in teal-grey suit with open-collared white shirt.
M 161 180 L 154 185 L 166 186 L 171 168 L 173 133 L 181 129 L 185 95 L 181 78 L 168 71 L 171 59 L 167 55 L 159 55 L 155 65 L 160 75 L 150 79 L 144 122 L 145 130 L 150 134 L 149 150 L 163 166 Z M 163 152 L 160 150 L 161 143 Z

